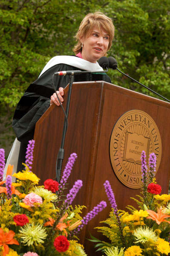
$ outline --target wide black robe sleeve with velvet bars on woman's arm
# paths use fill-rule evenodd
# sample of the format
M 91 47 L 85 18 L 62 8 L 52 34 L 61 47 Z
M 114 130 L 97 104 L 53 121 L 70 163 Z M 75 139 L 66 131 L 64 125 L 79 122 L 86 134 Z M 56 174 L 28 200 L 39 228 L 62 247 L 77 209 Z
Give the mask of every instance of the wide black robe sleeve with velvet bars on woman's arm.
M 61 70 L 73 70 L 65 64 L 58 64 L 46 70 L 36 81 L 29 85 L 14 112 L 12 127 L 17 140 L 28 142 L 33 139 L 35 124 L 50 105 L 50 97 L 54 93 L 52 75 Z M 54 76 L 55 89 L 65 88 L 69 83 L 69 76 Z

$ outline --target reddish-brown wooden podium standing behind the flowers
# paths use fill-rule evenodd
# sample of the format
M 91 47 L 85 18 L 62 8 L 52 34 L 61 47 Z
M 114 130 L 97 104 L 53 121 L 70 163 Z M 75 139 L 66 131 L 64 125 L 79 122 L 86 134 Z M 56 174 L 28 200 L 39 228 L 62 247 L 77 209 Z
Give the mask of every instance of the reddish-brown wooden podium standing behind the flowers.
M 68 86 L 65 89 L 64 108 L 67 93 Z M 86 212 L 89 212 L 100 201 L 107 202 L 107 208 L 81 234 L 81 242 L 88 256 L 95 252 L 94 244 L 86 239 L 89 238 L 89 231 L 100 239 L 101 234 L 93 228 L 100 226 L 99 222 L 108 218 L 111 209 L 103 186 L 105 180 L 109 180 L 112 186 L 118 209 L 125 209 L 128 204 L 133 204 L 130 197 L 140 191 L 124 186 L 118 180 L 109 156 L 109 141 L 115 123 L 125 112 L 134 109 L 146 112 L 158 127 L 162 157 L 156 181 L 162 186 L 162 193 L 167 193 L 170 180 L 170 104 L 104 81 L 73 84 L 63 168 L 69 155 L 77 153 L 78 158 L 69 178 L 69 188 L 78 179 L 83 180 L 83 188 L 78 192 L 75 204 L 85 205 Z M 61 146 L 63 122 L 61 107 L 52 105 L 36 124 L 33 172 L 40 177 L 41 183 L 56 177 L 55 165 Z M 86 212 L 83 212 L 82 217 Z

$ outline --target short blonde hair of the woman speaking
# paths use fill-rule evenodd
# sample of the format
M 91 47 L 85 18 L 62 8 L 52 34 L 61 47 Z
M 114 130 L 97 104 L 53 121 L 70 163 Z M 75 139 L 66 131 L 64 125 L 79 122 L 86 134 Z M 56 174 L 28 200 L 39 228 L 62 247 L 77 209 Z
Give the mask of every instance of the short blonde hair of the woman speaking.
M 115 27 L 112 23 L 112 19 L 104 15 L 102 12 L 95 12 L 87 14 L 84 19 L 81 21 L 78 32 L 75 35 L 77 44 L 73 48 L 73 52 L 78 54 L 82 50 L 82 44 L 80 41 L 81 37 L 86 37 L 90 35 L 93 27 L 97 26 L 98 30 L 102 32 L 102 29 L 105 30 L 109 35 L 109 45 L 107 48 L 107 52 L 112 46 L 112 40 L 114 38 Z M 105 54 L 106 56 L 107 54 Z

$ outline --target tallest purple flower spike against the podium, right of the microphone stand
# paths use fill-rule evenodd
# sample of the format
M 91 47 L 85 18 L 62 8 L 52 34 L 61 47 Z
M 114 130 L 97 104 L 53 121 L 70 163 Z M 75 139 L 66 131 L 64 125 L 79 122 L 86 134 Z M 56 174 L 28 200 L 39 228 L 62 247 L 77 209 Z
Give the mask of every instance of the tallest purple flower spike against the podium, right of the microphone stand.
M 67 182 L 67 180 L 69 178 L 69 175 L 71 174 L 72 167 L 73 167 L 73 165 L 75 163 L 76 158 L 77 158 L 77 154 L 76 153 L 72 153 L 70 155 L 70 157 L 68 159 L 68 162 L 66 163 L 66 166 L 64 168 L 63 176 L 61 178 L 60 184 L 58 186 L 59 190 L 62 189 L 65 186 L 65 184 L 66 184 L 66 182 Z M 59 192 L 58 192 L 58 194 L 59 194 Z

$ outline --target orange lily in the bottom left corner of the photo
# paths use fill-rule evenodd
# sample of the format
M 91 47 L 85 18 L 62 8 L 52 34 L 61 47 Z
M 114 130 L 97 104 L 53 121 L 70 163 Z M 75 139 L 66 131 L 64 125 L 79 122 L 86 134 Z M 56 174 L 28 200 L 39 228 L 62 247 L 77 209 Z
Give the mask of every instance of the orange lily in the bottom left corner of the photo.
M 19 245 L 18 241 L 13 239 L 15 233 L 12 230 L 9 230 L 9 232 L 3 232 L 3 229 L 0 228 L 0 246 L 3 245 L 3 256 L 6 256 L 6 254 L 9 253 L 9 247 L 7 244 L 17 244 Z

